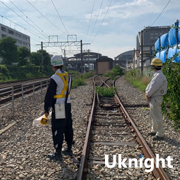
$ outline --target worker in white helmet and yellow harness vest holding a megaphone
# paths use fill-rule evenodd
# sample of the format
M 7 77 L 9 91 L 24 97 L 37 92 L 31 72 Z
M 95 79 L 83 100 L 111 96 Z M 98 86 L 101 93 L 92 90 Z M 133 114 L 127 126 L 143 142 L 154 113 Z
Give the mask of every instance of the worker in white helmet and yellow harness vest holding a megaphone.
M 51 58 L 51 67 L 55 74 L 50 79 L 50 84 L 45 96 L 45 116 L 49 115 L 52 107 L 52 136 L 55 153 L 48 158 L 62 160 L 62 153 L 72 156 L 73 128 L 71 103 L 69 92 L 71 89 L 71 77 L 63 71 L 64 62 L 62 56 L 55 55 Z M 62 151 L 63 134 L 67 142 L 67 149 Z

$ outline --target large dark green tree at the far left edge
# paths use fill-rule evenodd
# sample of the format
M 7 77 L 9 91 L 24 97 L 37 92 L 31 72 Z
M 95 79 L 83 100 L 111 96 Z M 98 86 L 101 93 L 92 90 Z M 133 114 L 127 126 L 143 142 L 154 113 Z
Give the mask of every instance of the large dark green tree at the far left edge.
M 17 62 L 18 51 L 14 38 L 3 37 L 0 39 L 0 57 L 3 58 L 3 64 L 10 65 L 12 62 Z

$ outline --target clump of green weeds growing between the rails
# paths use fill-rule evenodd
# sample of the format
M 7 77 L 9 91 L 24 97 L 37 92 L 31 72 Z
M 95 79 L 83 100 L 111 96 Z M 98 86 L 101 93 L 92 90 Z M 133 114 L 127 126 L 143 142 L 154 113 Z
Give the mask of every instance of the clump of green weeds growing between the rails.
M 106 88 L 106 87 L 97 86 L 95 90 L 100 96 L 113 97 L 114 94 L 116 93 L 117 88 L 116 87 Z

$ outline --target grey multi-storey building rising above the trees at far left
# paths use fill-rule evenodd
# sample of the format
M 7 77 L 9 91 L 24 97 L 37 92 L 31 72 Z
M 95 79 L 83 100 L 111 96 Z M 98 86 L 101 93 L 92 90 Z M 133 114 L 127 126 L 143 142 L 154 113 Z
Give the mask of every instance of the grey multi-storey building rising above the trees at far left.
M 16 45 L 18 47 L 25 46 L 30 50 L 30 36 L 0 24 L 0 39 L 3 37 L 12 37 L 16 39 Z

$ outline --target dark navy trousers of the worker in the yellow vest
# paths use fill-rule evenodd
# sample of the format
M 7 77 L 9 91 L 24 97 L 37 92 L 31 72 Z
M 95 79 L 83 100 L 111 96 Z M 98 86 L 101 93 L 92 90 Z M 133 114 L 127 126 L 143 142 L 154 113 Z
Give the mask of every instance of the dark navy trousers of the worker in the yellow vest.
M 68 147 L 71 147 L 73 142 L 73 128 L 70 103 L 66 104 L 66 119 L 55 119 L 55 113 L 54 111 L 52 112 L 53 142 L 54 148 L 58 151 L 62 149 L 64 134 Z

